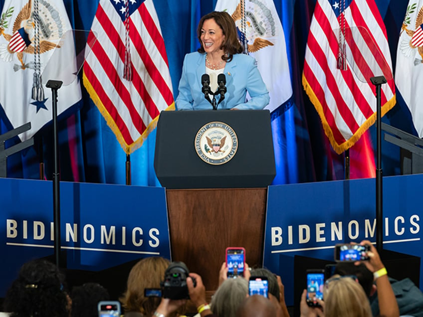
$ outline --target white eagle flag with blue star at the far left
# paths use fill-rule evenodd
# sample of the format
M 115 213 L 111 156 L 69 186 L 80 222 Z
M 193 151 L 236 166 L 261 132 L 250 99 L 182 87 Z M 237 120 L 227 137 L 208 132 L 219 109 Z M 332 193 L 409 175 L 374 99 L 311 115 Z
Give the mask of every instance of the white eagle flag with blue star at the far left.
M 51 90 L 41 76 L 53 54 L 74 56 L 74 47 L 62 46 L 66 36 L 73 36 L 62 0 L 5 0 L 0 17 L 0 104 L 5 122 L 17 128 L 31 122 L 31 130 L 20 135 L 31 138 L 52 119 Z M 73 43 L 73 41 L 71 41 Z M 70 61 L 67 60 L 67 63 Z M 55 65 L 56 75 L 68 65 Z M 41 78 L 40 78 L 41 76 Z M 57 113 L 81 99 L 77 81 L 58 90 Z

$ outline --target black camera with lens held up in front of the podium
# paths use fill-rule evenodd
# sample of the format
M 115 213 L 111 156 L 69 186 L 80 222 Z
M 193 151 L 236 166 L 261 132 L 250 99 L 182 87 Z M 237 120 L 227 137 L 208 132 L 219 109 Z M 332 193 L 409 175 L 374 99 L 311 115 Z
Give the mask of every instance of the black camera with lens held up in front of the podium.
M 165 280 L 160 283 L 162 287 L 163 298 L 171 300 L 183 300 L 189 299 L 187 287 L 187 277 L 190 271 L 183 262 L 172 262 L 165 271 Z M 194 278 L 194 287 L 197 286 L 197 282 Z

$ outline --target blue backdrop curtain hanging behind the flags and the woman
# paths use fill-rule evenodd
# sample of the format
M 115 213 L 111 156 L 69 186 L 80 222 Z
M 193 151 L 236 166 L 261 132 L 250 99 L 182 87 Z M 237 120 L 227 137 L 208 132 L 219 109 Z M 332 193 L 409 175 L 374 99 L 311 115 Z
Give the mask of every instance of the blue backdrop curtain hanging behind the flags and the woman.
M 154 0 L 169 59 L 174 97 L 184 55 L 198 48 L 196 35 L 200 17 L 213 10 L 216 0 Z M 304 52 L 316 0 L 274 0 L 287 41 L 293 95 L 271 114 L 277 175 L 274 184 L 343 179 L 343 155 L 331 149 L 320 119 L 301 86 Z M 397 42 L 408 1 L 376 0 L 388 32 L 391 56 L 395 67 Z M 4 0 L 0 0 L 2 8 Z M 69 19 L 75 29 L 89 30 L 98 0 L 64 0 Z M 271 62 L 271 61 L 270 61 Z M 4 78 L 2 80 L 5 80 Z M 47 79 L 44 79 L 47 80 Z M 79 110 L 60 118 L 60 176 L 67 181 L 125 183 L 126 155 L 108 128 L 103 117 L 83 90 Z M 49 91 L 46 91 L 50 94 Z M 60 90 L 59 90 L 60 94 Z M 383 121 L 409 133 L 414 131 L 411 115 L 397 92 L 395 106 Z M 375 101 L 376 102 L 376 101 Z M 1 112 L 1 111 L 0 111 Z M 0 134 L 8 130 L 8 122 L 0 120 Z M 8 177 L 39 178 L 39 162 L 45 163 L 44 178 L 52 175 L 52 131 L 46 126 L 35 135 L 35 146 L 7 160 Z M 370 145 L 375 142 L 375 127 L 370 129 Z M 153 168 L 156 133 L 131 155 L 132 183 L 158 186 Z M 372 142 L 373 140 L 373 142 Z M 12 140 L 10 146 L 18 142 Z M 366 177 L 361 169 L 368 162 L 361 153 L 351 151 L 352 175 Z M 376 152 L 376 149 L 375 149 Z M 383 143 L 384 175 L 400 172 L 399 149 Z M 374 163 L 374 158 L 371 158 Z

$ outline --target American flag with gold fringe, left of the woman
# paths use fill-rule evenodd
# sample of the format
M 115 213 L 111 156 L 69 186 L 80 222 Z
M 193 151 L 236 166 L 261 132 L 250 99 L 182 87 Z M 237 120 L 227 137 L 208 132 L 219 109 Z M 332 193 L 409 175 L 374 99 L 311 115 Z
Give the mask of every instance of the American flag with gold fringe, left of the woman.
M 87 45 L 84 86 L 130 154 L 155 128 L 159 113 L 175 107 L 153 1 L 100 0 Z M 128 47 L 131 80 L 123 78 Z

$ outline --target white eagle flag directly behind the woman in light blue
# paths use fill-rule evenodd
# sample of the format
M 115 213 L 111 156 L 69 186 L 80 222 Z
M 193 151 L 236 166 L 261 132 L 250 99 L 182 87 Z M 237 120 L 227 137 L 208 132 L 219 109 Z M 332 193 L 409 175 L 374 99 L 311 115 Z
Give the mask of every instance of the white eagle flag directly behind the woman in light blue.
M 265 109 L 275 110 L 292 95 L 285 35 L 273 0 L 217 0 L 216 11 L 227 11 L 235 21 L 248 54 L 270 95 Z

